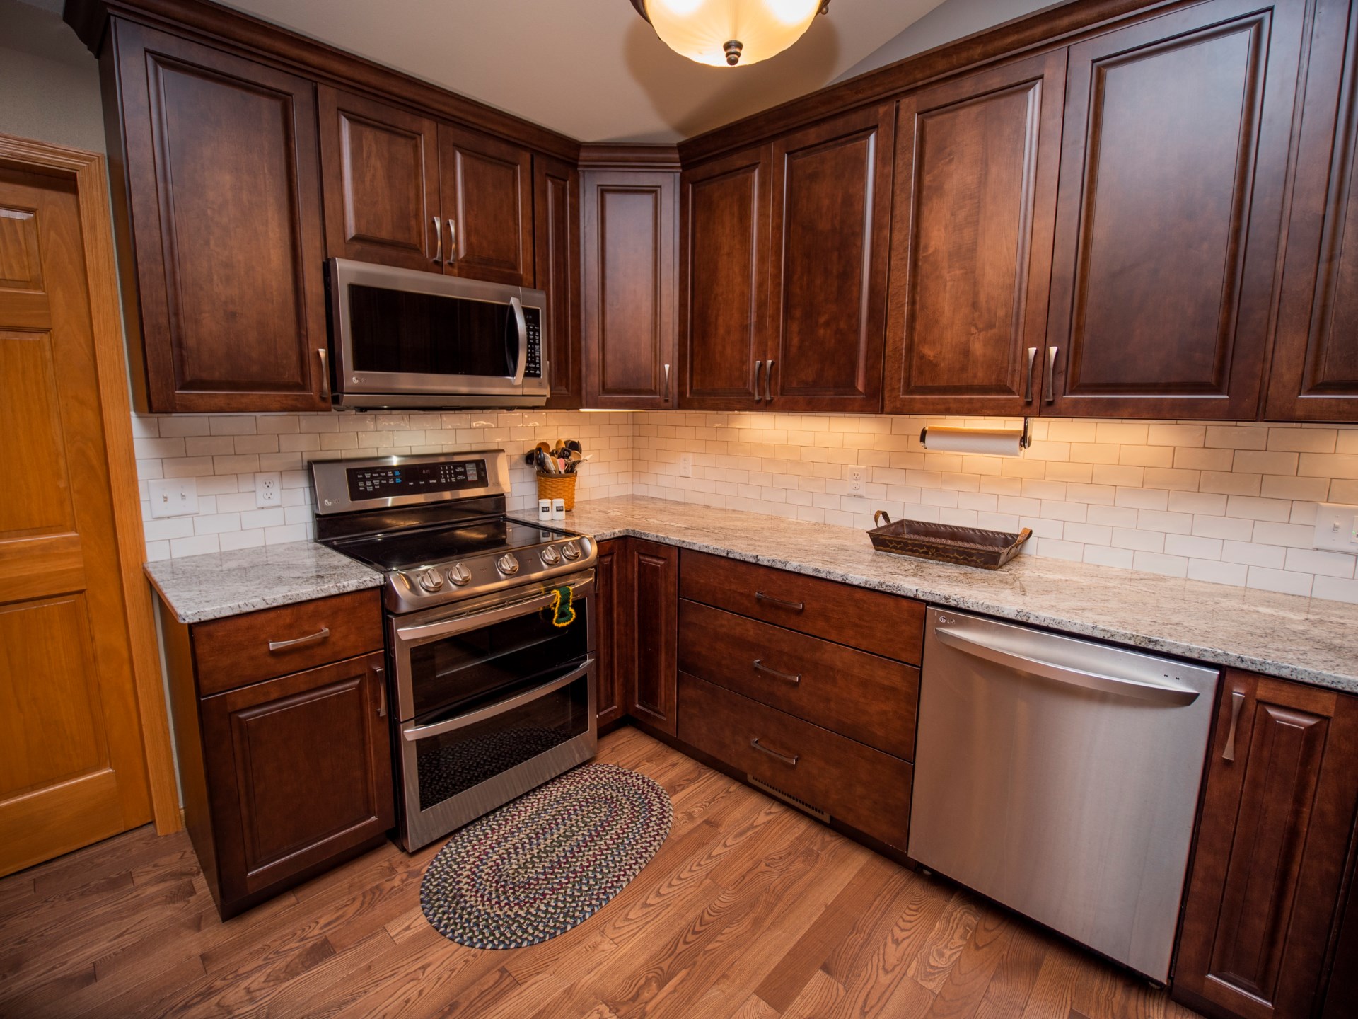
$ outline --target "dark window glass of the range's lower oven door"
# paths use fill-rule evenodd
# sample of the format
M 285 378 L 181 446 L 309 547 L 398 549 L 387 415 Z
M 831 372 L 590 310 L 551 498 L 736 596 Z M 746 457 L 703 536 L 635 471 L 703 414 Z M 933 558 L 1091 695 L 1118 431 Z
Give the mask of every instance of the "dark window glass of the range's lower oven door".
M 532 689 L 532 687 L 528 687 Z M 466 728 L 416 743 L 420 810 L 589 731 L 589 677 Z

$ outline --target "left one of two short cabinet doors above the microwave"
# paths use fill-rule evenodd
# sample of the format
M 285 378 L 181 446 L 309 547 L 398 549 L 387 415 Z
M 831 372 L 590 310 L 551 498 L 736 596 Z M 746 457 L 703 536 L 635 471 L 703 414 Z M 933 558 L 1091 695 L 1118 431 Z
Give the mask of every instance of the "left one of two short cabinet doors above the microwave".
M 443 272 L 437 124 L 329 86 L 316 102 L 326 253 Z

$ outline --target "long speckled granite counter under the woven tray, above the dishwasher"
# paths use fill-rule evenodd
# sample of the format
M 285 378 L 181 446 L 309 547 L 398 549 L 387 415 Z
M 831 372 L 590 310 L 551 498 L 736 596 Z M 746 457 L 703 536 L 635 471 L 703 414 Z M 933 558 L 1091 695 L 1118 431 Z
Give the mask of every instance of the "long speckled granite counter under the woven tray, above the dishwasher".
M 566 526 L 1358 693 L 1355 605 L 1032 556 L 995 572 L 953 567 L 876 552 L 849 527 L 661 499 L 580 503 Z

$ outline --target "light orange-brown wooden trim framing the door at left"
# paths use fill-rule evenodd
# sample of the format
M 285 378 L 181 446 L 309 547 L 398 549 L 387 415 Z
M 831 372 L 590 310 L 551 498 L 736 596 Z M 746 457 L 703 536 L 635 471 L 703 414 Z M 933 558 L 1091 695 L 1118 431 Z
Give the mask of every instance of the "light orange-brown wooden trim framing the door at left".
M 80 238 L 90 289 L 90 319 L 94 333 L 95 371 L 99 376 L 99 406 L 105 448 L 109 457 L 109 484 L 113 523 L 118 542 L 118 572 L 128 613 L 128 643 L 132 649 L 137 717 L 151 789 L 151 812 L 158 834 L 183 827 L 179 787 L 175 781 L 170 727 L 166 716 L 164 685 L 160 678 L 160 649 L 151 607 L 151 587 L 143 575 L 145 533 L 141 529 L 141 496 L 137 465 L 132 450 L 132 406 L 128 397 L 126 356 L 122 342 L 122 311 L 114 272 L 113 220 L 105 158 L 94 152 L 0 135 L 0 167 L 29 170 L 75 181 L 80 209 Z

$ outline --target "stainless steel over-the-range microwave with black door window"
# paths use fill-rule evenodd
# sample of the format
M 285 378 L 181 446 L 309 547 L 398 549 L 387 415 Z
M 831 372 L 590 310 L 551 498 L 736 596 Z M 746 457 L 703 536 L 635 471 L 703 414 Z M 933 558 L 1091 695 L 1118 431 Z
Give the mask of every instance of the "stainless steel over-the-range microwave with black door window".
M 542 291 L 345 258 L 326 291 L 337 406 L 547 402 Z

